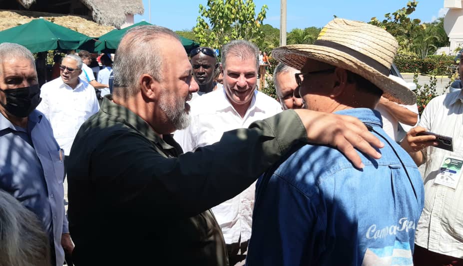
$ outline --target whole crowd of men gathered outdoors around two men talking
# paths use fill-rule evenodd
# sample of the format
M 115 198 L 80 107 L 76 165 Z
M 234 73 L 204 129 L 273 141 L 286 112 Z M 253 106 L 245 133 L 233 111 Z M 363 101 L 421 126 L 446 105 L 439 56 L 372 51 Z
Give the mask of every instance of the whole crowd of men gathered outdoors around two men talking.
M 391 34 L 321 32 L 272 51 L 278 101 L 247 40 L 137 26 L 43 84 L 1 43 L 0 265 L 460 265 L 463 92 L 419 117 Z

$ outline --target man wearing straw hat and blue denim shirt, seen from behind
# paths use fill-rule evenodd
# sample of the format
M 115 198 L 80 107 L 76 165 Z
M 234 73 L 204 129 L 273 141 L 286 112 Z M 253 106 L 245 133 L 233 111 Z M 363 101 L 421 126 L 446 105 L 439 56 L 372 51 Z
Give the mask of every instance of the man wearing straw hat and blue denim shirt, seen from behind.
M 423 181 L 412 158 L 382 129 L 383 95 L 415 94 L 389 78 L 398 43 L 384 29 L 336 18 L 313 45 L 276 48 L 307 109 L 355 116 L 385 142 L 363 169 L 325 145 L 305 145 L 258 180 L 248 265 L 411 265 Z

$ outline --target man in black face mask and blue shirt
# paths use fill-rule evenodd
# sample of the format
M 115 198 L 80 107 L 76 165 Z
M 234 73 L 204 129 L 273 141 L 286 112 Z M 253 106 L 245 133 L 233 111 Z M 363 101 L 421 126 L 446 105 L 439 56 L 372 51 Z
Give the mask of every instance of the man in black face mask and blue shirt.
M 63 152 L 47 118 L 35 110 L 39 102 L 32 53 L 19 44 L 1 43 L 0 189 L 35 213 L 48 235 L 52 265 L 62 266 L 64 252 L 73 248 L 64 215 Z

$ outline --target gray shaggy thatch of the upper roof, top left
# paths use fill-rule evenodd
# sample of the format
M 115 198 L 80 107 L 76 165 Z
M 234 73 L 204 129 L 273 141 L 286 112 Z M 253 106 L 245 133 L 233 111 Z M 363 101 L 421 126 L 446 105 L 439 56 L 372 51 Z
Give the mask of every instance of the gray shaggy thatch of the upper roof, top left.
M 25 8 L 36 0 L 17 0 Z M 142 0 L 80 0 L 91 10 L 93 20 L 103 25 L 119 28 L 125 23 L 126 14 L 143 14 Z

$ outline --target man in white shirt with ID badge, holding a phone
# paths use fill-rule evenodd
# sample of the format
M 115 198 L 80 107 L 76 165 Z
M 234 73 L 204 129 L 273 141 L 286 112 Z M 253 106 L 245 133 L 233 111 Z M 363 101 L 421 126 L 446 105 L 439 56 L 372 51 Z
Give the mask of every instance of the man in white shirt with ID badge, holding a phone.
M 417 266 L 463 263 L 463 91 L 433 98 L 401 146 L 417 165 L 426 165 L 425 207 L 418 221 L 413 263 Z M 452 137 L 453 151 L 435 147 L 431 131 Z

